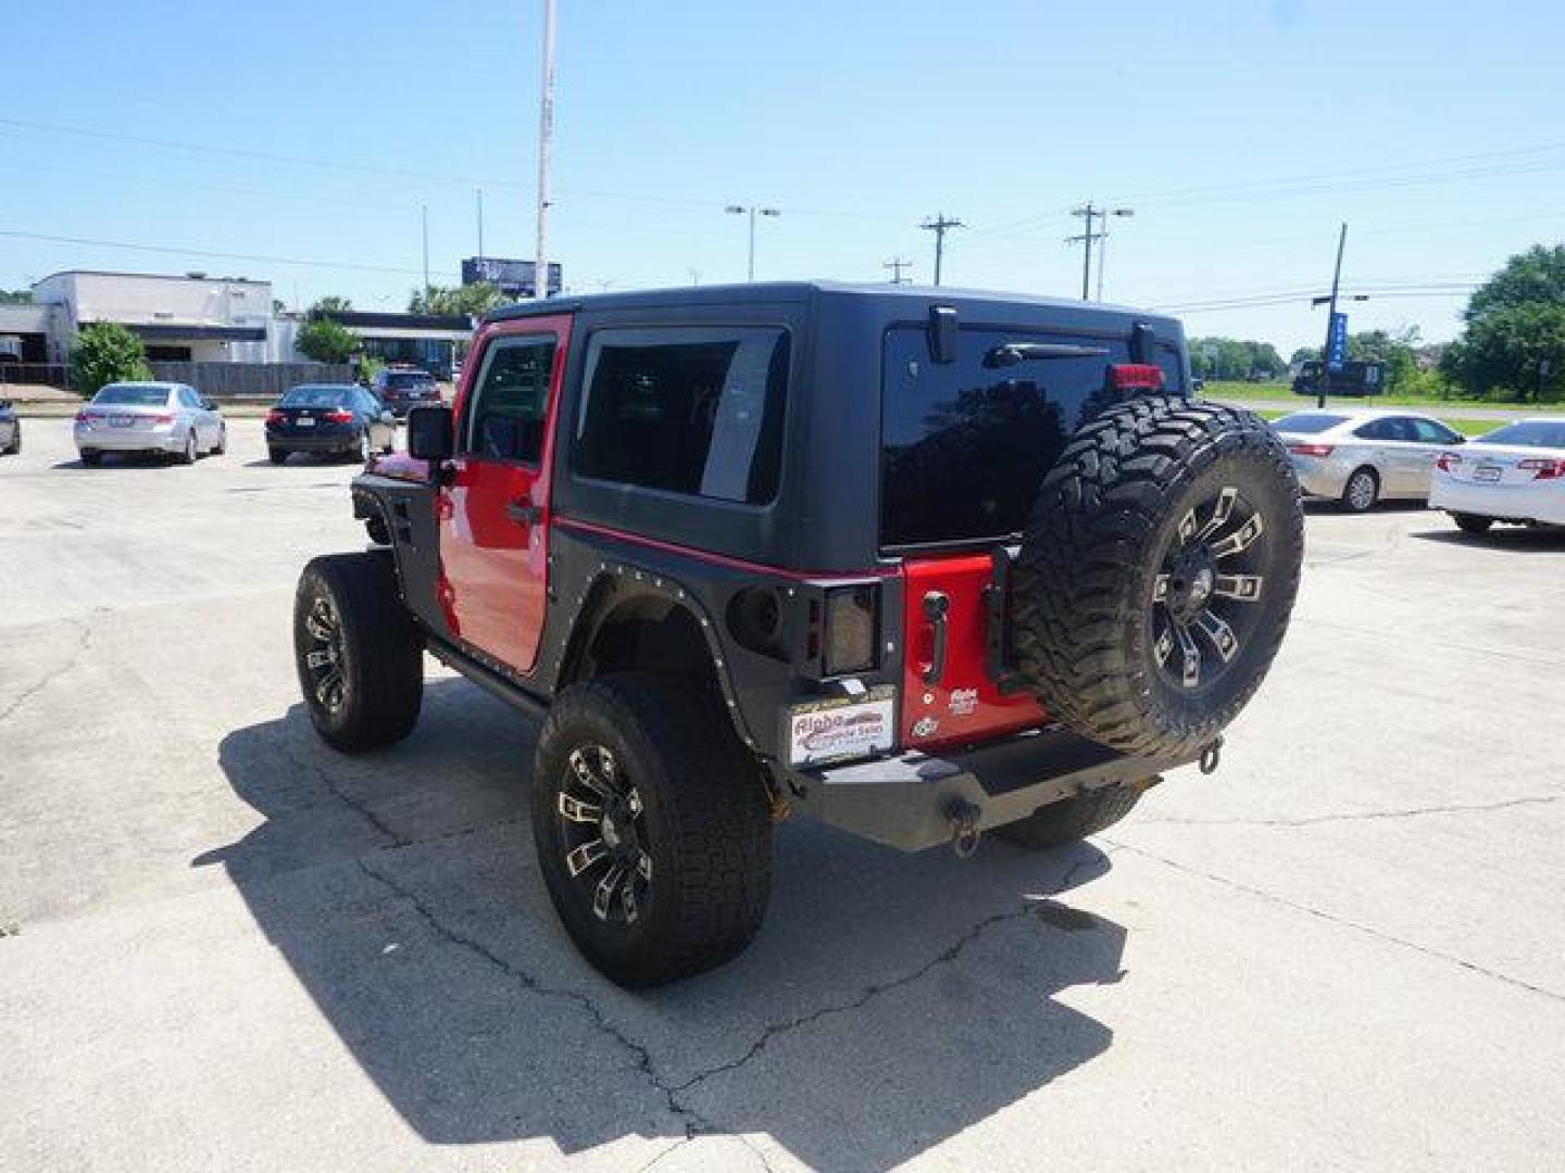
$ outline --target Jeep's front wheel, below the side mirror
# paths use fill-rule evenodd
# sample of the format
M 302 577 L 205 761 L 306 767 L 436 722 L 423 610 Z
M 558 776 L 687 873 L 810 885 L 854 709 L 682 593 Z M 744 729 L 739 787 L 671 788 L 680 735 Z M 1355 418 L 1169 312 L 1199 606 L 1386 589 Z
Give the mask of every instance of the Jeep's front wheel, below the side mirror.
M 401 741 L 424 698 L 424 640 L 388 554 L 311 558 L 294 593 L 294 665 L 305 710 L 335 749 Z

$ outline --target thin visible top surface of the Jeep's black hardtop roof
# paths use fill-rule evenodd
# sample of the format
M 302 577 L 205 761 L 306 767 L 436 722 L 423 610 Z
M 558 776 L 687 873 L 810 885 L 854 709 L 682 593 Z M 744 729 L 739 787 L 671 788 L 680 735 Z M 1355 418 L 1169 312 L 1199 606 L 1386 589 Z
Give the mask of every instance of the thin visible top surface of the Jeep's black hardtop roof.
M 537 317 L 577 310 L 653 310 L 679 305 L 776 305 L 812 300 L 817 296 L 839 296 L 883 303 L 887 317 L 920 317 L 930 305 L 956 307 L 958 316 L 980 314 L 989 321 L 1003 317 L 1006 307 L 1025 307 L 1031 311 L 1045 310 L 1058 316 L 1063 325 L 1088 325 L 1105 317 L 1135 319 L 1144 322 L 1174 322 L 1169 314 L 1138 310 L 1127 305 L 1081 302 L 1066 297 L 1034 297 L 1031 294 L 995 292 L 991 289 L 956 289 L 941 285 L 861 285 L 853 282 L 754 282 L 750 285 L 685 285 L 668 289 L 632 289 L 626 292 L 587 294 L 571 297 L 548 297 L 545 300 L 516 302 L 490 313 L 485 322 L 504 322 L 516 317 Z M 912 305 L 909 305 L 909 302 Z M 984 313 L 992 310 L 994 313 Z M 1030 314 L 1031 316 L 1031 314 Z

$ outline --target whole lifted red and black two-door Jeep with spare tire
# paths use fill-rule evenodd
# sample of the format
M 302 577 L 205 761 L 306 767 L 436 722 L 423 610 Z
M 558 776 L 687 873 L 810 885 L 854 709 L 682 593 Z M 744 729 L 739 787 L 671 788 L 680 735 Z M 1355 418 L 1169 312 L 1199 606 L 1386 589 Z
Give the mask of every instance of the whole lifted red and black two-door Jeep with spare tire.
M 502 310 L 354 482 L 380 549 L 304 571 L 307 708 L 390 744 L 429 651 L 541 718 L 538 863 L 624 985 L 750 942 L 795 809 L 909 851 L 1077 840 L 1216 766 L 1297 588 L 1286 452 L 1188 386 L 1178 322 L 1081 302 Z

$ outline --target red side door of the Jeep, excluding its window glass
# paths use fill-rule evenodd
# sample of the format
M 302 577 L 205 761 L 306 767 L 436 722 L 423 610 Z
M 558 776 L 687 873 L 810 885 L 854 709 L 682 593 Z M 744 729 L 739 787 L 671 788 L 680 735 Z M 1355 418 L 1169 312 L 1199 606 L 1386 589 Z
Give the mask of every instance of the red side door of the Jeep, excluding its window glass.
M 548 590 L 554 419 L 571 319 L 526 317 L 487 327 L 474 343 L 454 405 L 457 455 L 440 490 L 441 605 L 452 633 L 516 673 L 538 657 Z M 465 447 L 470 400 L 484 389 L 488 349 L 507 338 L 552 336 L 541 452 L 537 463 L 491 460 Z

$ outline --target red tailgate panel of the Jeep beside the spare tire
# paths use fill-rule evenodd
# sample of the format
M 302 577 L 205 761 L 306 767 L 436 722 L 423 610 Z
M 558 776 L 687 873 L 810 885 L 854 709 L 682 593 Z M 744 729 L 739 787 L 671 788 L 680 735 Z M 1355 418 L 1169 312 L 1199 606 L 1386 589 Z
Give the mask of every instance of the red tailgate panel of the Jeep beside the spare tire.
M 908 655 L 903 677 L 901 740 L 908 748 L 934 748 L 998 737 L 1047 723 L 1027 693 L 1005 696 L 988 669 L 989 615 L 984 586 L 994 572 L 988 554 L 917 558 L 903 563 Z M 925 680 L 934 660 L 934 624 L 923 599 L 947 599 L 945 665 L 937 680 Z

